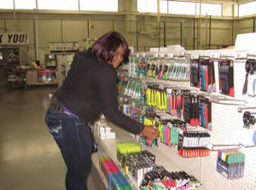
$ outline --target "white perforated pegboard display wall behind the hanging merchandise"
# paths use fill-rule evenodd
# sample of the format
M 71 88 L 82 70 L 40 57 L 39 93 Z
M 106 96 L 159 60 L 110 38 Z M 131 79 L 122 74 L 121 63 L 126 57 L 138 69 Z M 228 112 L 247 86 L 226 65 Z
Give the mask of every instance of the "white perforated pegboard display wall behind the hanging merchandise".
M 220 53 L 221 57 L 223 55 L 231 58 L 236 55 L 234 50 L 209 50 L 204 51 L 204 55 L 211 56 L 214 52 Z M 189 54 L 193 54 L 193 51 L 189 51 Z M 246 59 L 241 60 L 241 57 L 240 60 L 234 60 L 235 99 L 247 101 L 247 107 L 254 107 L 256 106 L 256 98 L 242 95 L 242 89 L 246 78 L 245 63 Z M 218 60 L 214 61 L 214 67 L 217 93 L 213 94 L 222 95 L 219 94 Z M 168 83 L 177 87 L 199 91 L 197 88 L 190 87 L 188 82 L 172 82 L 158 79 L 149 79 L 149 81 L 153 83 Z M 229 98 L 227 95 L 223 96 Z M 230 97 L 230 99 L 232 98 Z M 212 144 L 253 144 L 253 132 L 256 130 L 256 126 L 252 129 L 243 128 L 242 117 L 243 112 L 245 111 L 237 112 L 238 107 L 241 106 L 212 103 L 212 131 L 209 131 L 212 137 Z M 204 189 L 256 190 L 256 147 L 241 148 L 241 152 L 246 155 L 245 173 L 243 178 L 236 180 L 227 180 L 224 176 L 218 174 L 216 170 L 217 152 L 211 152 L 210 157 L 206 158 L 181 158 L 177 155 L 177 147 L 166 147 L 166 145 L 160 143 L 159 147 L 151 147 L 148 149 L 156 154 L 158 159 L 157 164 L 162 164 L 167 170 L 187 171 L 201 181 Z

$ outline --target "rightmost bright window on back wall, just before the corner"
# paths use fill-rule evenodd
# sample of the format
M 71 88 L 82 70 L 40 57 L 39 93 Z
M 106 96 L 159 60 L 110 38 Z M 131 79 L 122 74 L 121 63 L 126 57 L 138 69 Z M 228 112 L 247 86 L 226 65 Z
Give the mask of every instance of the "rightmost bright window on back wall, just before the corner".
M 200 3 L 196 3 L 196 14 L 200 14 Z M 222 16 L 222 4 L 201 3 L 201 15 Z

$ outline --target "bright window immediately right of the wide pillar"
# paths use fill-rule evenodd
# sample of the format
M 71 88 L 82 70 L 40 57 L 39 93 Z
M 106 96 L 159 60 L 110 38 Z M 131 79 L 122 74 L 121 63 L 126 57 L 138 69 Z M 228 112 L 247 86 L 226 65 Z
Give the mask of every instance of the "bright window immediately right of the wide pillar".
M 137 11 L 140 13 L 157 13 L 157 0 L 137 0 Z

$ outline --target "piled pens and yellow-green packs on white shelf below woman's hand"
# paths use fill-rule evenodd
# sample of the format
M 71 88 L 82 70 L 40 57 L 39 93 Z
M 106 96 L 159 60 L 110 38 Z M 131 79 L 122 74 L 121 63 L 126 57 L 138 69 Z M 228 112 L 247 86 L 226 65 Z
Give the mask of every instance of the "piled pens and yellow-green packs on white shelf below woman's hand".
M 155 155 L 140 151 L 136 143 L 123 142 L 117 147 L 118 160 L 125 173 L 136 181 L 140 189 L 191 189 L 201 184 L 184 171 L 168 172 L 155 164 Z

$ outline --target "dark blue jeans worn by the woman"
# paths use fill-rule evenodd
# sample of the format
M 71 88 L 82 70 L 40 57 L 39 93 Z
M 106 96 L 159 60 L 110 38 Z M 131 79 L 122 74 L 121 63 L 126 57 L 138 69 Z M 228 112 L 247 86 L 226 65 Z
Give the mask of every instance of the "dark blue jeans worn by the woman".
M 88 123 L 81 118 L 51 109 L 46 113 L 45 122 L 67 165 L 67 190 L 87 189 L 92 149 L 92 135 Z

